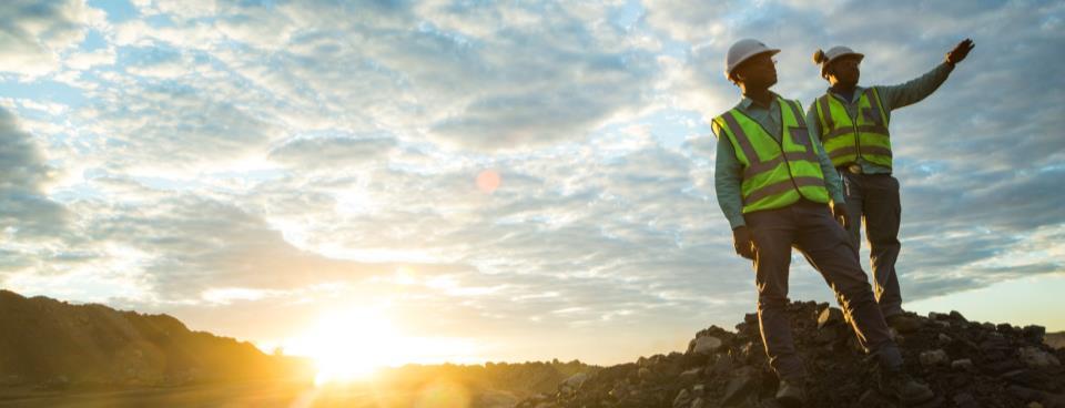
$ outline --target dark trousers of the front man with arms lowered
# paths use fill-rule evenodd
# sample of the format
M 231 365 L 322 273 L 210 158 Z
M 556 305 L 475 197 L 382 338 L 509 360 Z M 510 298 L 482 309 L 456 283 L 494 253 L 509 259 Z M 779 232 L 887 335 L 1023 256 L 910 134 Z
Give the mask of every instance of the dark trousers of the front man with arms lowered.
M 791 248 L 798 248 L 830 287 L 851 327 L 868 351 L 880 355 L 888 367 L 902 365 L 899 348 L 888 334 L 888 324 L 876 305 L 869 278 L 846 232 L 832 218 L 828 205 L 800 201 L 791 206 L 744 215 L 758 248 L 754 257 L 758 285 L 758 322 L 769 364 L 783 379 L 805 376 L 795 355 L 788 304 Z

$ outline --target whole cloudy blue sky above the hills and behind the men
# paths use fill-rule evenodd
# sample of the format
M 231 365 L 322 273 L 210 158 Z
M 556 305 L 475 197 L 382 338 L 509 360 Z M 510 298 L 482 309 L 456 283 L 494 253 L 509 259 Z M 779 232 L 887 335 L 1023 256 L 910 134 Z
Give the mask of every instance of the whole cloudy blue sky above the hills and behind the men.
M 728 47 L 781 49 L 773 90 L 805 106 L 819 48 L 890 85 L 972 38 L 892 114 L 904 307 L 1065 330 L 1063 19 L 1061 1 L 4 1 L 0 287 L 288 354 L 310 334 L 396 364 L 682 351 L 757 298 L 713 192 Z M 792 261 L 793 299 L 833 299 Z

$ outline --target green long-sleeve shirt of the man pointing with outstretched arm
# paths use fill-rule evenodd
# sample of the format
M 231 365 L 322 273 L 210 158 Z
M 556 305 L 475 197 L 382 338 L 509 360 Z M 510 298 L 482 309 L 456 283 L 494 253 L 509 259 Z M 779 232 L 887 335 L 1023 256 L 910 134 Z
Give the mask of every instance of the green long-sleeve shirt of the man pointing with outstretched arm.
M 917 103 L 927 98 L 932 94 L 932 92 L 935 92 L 935 90 L 939 89 L 944 81 L 946 81 L 946 78 L 950 76 L 951 71 L 953 70 L 954 65 L 944 62 L 924 75 L 921 75 L 906 83 L 890 86 L 873 86 L 876 89 L 876 92 L 880 93 L 880 99 L 883 103 L 884 113 L 888 115 L 889 123 L 891 121 L 892 110 Z M 829 88 L 829 90 L 825 92 L 839 96 L 836 100 L 843 102 L 843 108 L 846 109 L 846 114 L 851 118 L 856 118 L 858 101 L 862 98 L 862 92 L 865 89 L 862 86 L 855 86 L 854 93 L 851 94 L 850 100 L 848 100 L 845 95 L 833 92 L 831 88 Z M 812 135 L 811 137 L 820 139 L 821 121 L 818 119 L 816 101 L 810 103 L 810 106 L 807 109 L 807 125 L 810 126 L 810 134 Z M 858 157 L 858 165 L 862 166 L 862 173 L 865 174 L 891 173 L 891 169 L 879 164 L 873 164 L 863 157 Z

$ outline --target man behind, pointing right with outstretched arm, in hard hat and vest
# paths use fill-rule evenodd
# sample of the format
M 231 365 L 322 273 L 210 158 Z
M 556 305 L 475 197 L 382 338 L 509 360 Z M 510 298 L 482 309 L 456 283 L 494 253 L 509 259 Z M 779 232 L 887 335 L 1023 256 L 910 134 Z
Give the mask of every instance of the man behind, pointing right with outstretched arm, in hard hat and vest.
M 814 62 L 821 64 L 821 76 L 831 85 L 810 104 L 807 124 L 843 175 L 846 225 L 855 253 L 861 247 L 862 223 L 865 224 L 876 302 L 888 325 L 900 333 L 913 332 L 920 323 L 902 308 L 895 273 L 902 206 L 899 181 L 892 176 L 888 123 L 892 111 L 932 94 L 973 47 L 973 41 L 966 39 L 929 73 L 893 86 L 859 86 L 859 64 L 864 55 L 850 48 L 833 47 L 813 55 Z

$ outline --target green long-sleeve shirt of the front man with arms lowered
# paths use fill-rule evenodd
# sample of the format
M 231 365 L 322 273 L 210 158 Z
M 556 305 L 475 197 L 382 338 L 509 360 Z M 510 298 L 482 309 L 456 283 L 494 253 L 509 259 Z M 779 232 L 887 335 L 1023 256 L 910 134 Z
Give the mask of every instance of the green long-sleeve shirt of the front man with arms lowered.
M 765 130 L 770 132 L 770 135 L 780 142 L 781 119 L 777 96 L 777 94 L 773 94 L 773 100 L 770 102 L 769 108 L 755 103 L 750 98 L 743 98 L 736 108 L 747 113 L 748 116 L 751 116 L 751 119 L 761 124 L 762 128 L 765 128 Z M 832 166 L 832 161 L 824 154 L 824 147 L 821 146 L 821 140 L 818 137 L 818 133 L 813 133 L 813 129 L 809 128 L 809 123 L 807 126 L 807 129 L 810 130 L 810 143 L 813 145 L 814 153 L 818 155 L 821 172 L 824 173 L 824 186 L 828 188 L 829 196 L 832 197 L 832 201 L 834 201 L 836 205 L 841 205 L 843 204 L 843 186 L 840 182 L 840 175 L 835 172 L 835 167 Z M 724 213 L 724 217 L 729 220 L 729 225 L 732 230 L 736 230 L 739 226 L 747 225 L 743 221 L 743 196 L 740 190 L 743 183 L 743 165 L 736 159 L 736 150 L 732 147 L 732 143 L 729 142 L 729 137 L 722 134 L 721 129 L 718 129 L 717 124 L 713 124 L 711 128 L 713 133 L 718 135 L 718 156 L 713 170 L 713 185 L 718 195 L 718 205 L 721 206 L 721 212 Z

